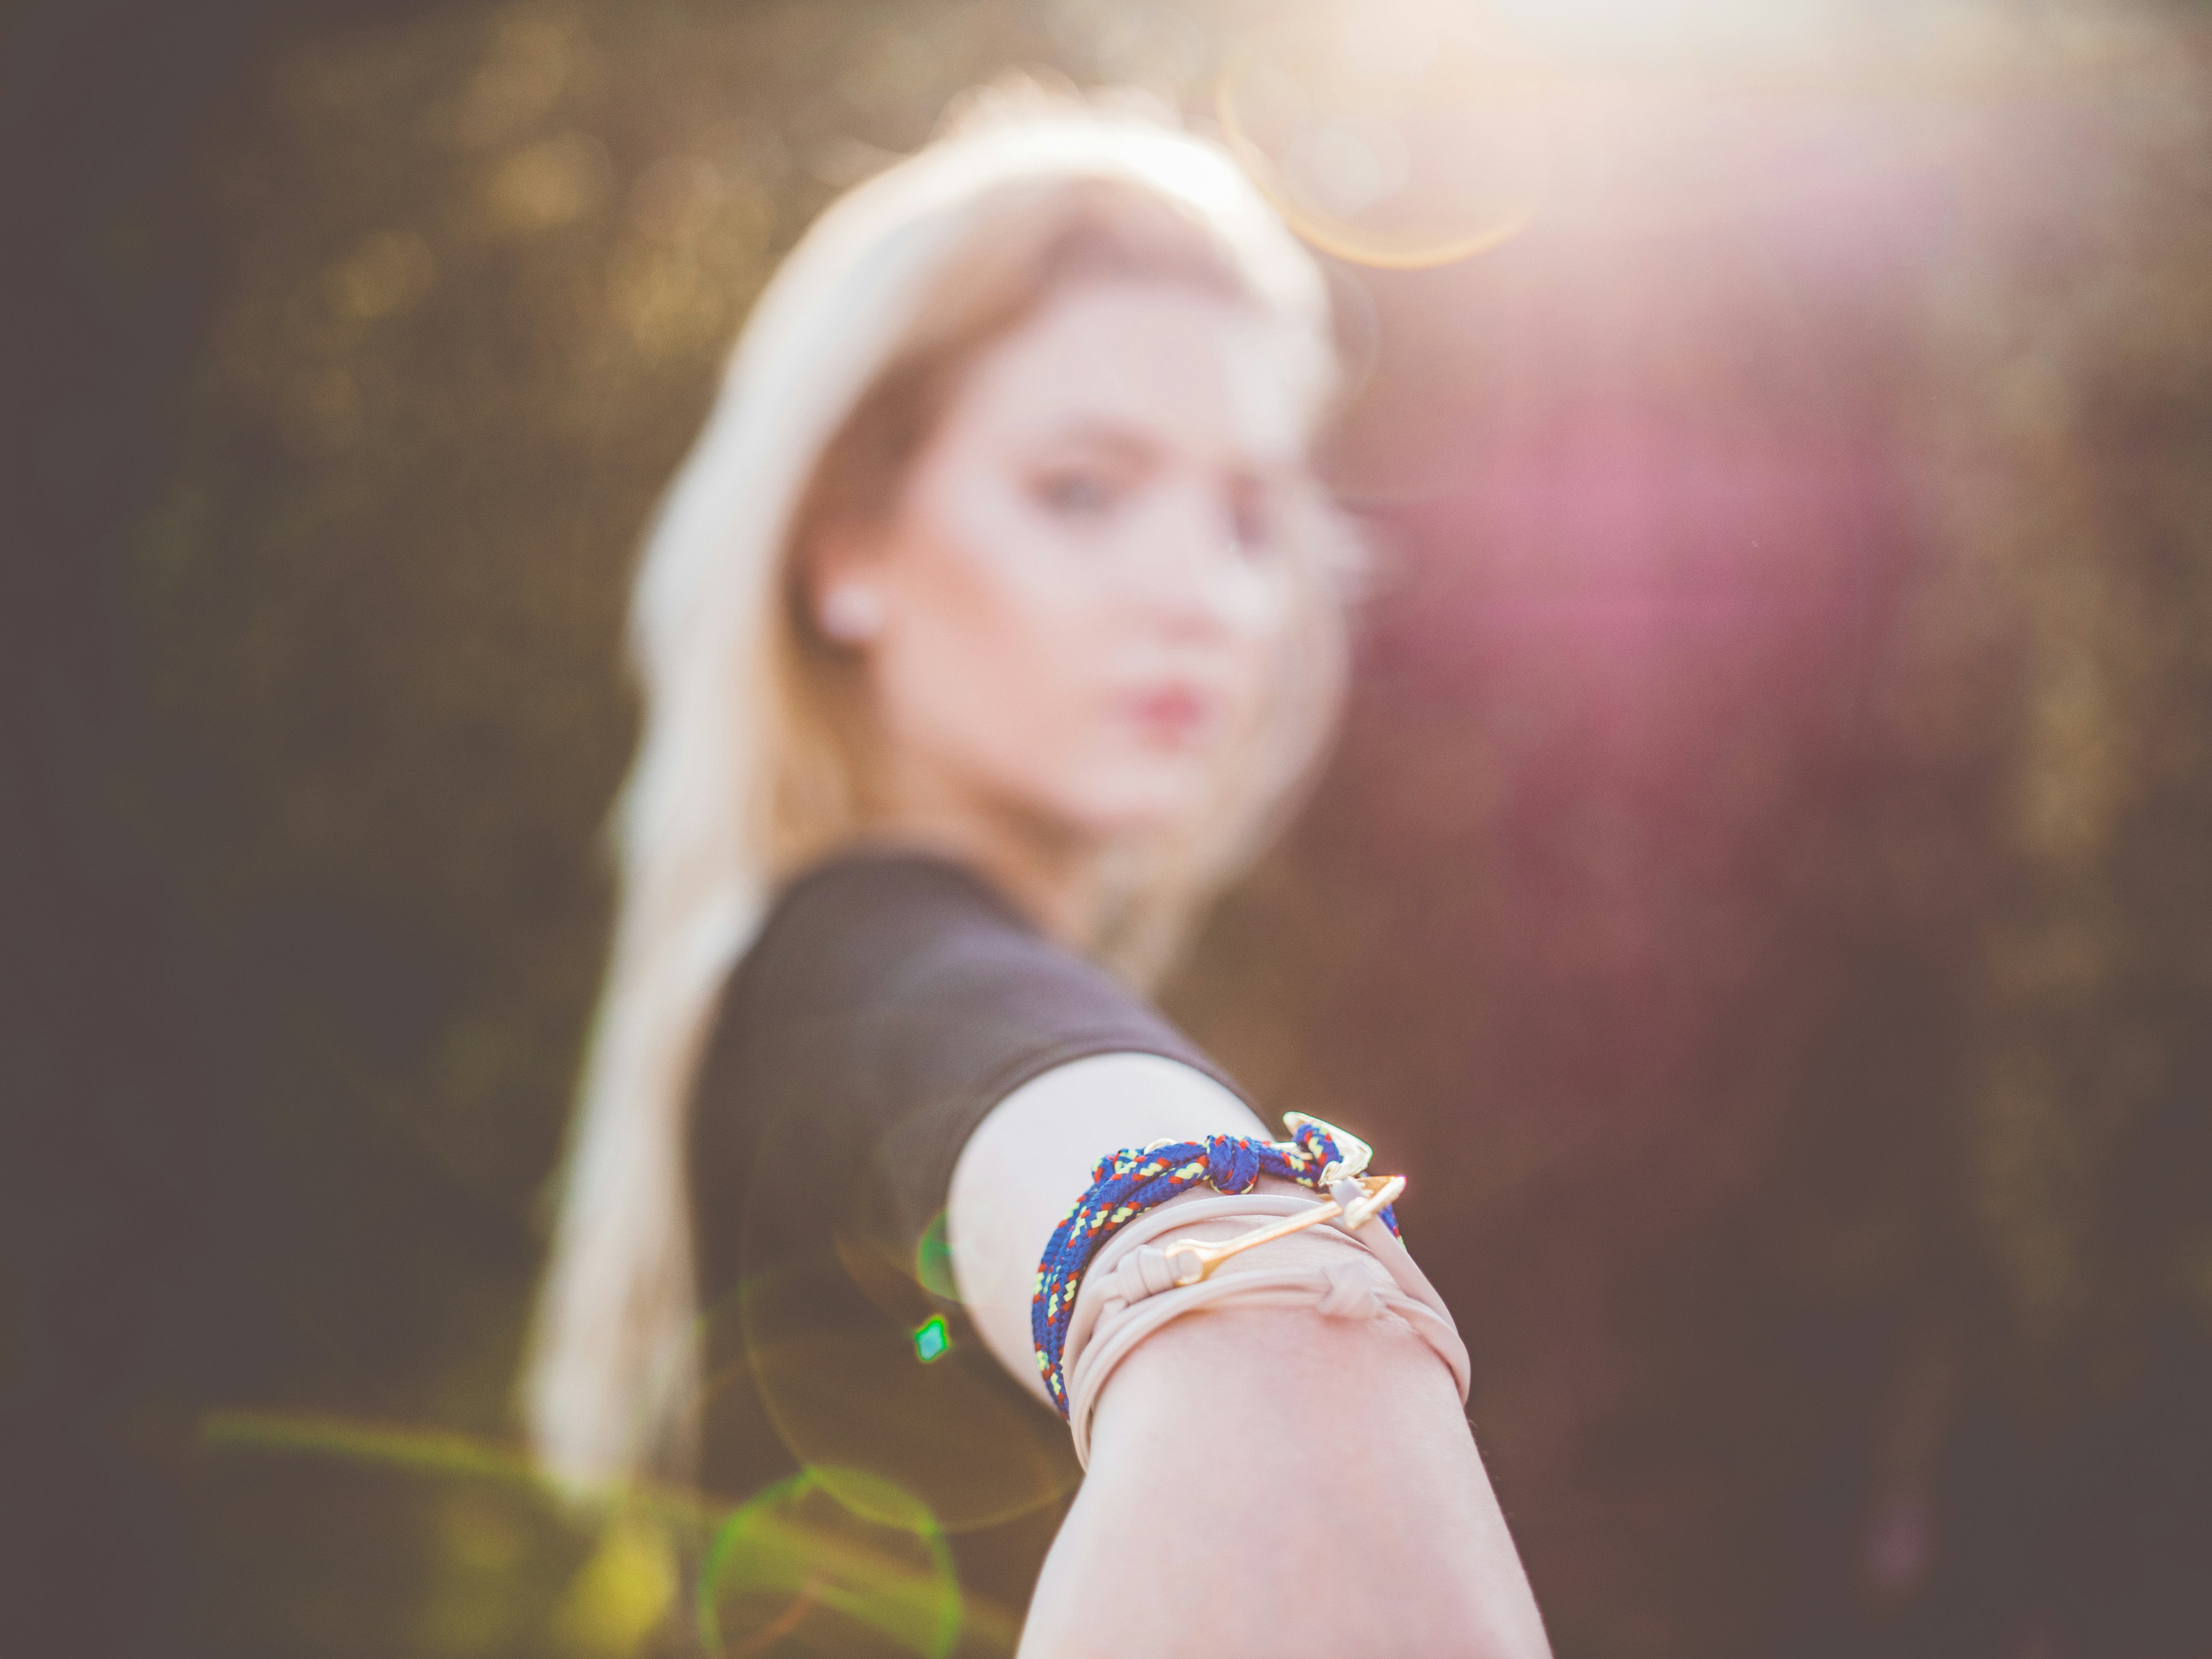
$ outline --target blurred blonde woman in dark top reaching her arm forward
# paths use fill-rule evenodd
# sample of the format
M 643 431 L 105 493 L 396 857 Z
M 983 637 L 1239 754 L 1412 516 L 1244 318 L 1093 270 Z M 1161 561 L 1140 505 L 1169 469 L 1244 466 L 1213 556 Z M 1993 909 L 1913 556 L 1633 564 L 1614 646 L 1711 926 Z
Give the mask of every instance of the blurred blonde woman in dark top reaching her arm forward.
M 526 1374 L 562 1478 L 692 1458 L 697 1316 L 737 1307 L 796 1458 L 949 1524 L 1066 1484 L 1055 1223 L 1117 1148 L 1279 1139 L 1133 987 L 1329 730 L 1332 369 L 1325 285 L 1232 161 L 1088 108 L 971 119 L 779 270 L 637 584 L 622 914 Z M 1544 1652 L 1455 1338 L 1416 1327 L 1250 1296 L 1135 1343 L 1022 1652 Z

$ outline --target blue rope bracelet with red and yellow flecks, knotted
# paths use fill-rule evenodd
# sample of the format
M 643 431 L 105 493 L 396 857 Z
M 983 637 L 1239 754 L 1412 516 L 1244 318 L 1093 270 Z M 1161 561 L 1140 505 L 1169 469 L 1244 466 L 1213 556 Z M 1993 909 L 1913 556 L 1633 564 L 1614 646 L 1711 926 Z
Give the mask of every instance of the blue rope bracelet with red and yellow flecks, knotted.
M 1285 1115 L 1283 1124 L 1292 1133 L 1287 1141 L 1208 1135 L 1203 1141 L 1124 1146 L 1097 1161 L 1091 1186 L 1053 1228 L 1044 1261 L 1037 1263 L 1037 1294 L 1029 1298 L 1029 1336 L 1037 1347 L 1037 1369 L 1062 1418 L 1068 1416 L 1068 1387 L 1060 1354 L 1068 1343 L 1068 1321 L 1075 1318 L 1075 1294 L 1082 1290 L 1084 1270 L 1121 1228 L 1201 1181 L 1217 1192 L 1250 1192 L 1259 1177 L 1279 1175 L 1327 1192 L 1323 1175 L 1329 1166 L 1343 1164 L 1347 1152 L 1354 1152 L 1356 1164 L 1365 1168 L 1367 1148 L 1343 1130 L 1298 1113 Z M 1345 1146 L 1338 1146 L 1338 1137 Z M 1378 1217 L 1396 1237 L 1396 1212 L 1383 1208 Z

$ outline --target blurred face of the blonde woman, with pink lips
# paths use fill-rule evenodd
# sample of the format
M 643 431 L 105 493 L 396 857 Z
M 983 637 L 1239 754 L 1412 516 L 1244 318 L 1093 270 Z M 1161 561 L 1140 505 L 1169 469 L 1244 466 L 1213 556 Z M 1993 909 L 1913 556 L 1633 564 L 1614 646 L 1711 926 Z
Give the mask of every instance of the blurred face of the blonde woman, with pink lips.
M 1252 312 L 1141 281 L 969 365 L 889 522 L 814 573 L 874 588 L 894 805 L 1097 845 L 1212 803 L 1294 602 L 1298 369 Z

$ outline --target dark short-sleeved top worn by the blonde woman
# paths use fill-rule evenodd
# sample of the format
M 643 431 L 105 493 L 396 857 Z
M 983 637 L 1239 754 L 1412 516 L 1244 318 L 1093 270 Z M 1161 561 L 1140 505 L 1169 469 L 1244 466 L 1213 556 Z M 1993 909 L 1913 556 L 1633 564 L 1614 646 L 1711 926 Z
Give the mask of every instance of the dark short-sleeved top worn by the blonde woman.
M 761 1473 L 732 1442 L 763 1433 L 801 1464 L 896 1482 L 949 1531 L 1073 1486 L 1066 1427 L 958 1305 L 945 1197 L 991 1106 L 1053 1066 L 1126 1051 L 1234 1088 L 956 863 L 847 854 L 779 896 L 726 989 L 690 1135 L 710 1352 L 757 1396 L 710 1407 L 721 1495 Z M 942 1356 L 931 1318 L 951 1340 Z M 765 1425 L 717 1427 L 717 1411 L 752 1405 Z

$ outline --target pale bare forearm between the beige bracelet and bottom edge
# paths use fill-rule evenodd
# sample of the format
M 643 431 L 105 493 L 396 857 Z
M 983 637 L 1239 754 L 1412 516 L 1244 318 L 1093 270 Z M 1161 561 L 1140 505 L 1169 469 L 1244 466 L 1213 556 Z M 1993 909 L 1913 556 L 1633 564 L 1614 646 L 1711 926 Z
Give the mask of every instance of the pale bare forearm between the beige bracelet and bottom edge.
M 1548 1652 L 1451 1374 L 1411 1327 L 1230 1305 L 1130 1354 L 1022 1659 L 1133 1652 Z

